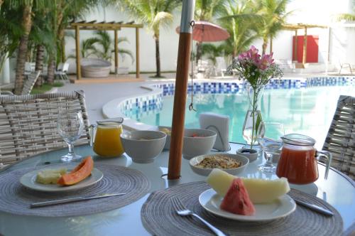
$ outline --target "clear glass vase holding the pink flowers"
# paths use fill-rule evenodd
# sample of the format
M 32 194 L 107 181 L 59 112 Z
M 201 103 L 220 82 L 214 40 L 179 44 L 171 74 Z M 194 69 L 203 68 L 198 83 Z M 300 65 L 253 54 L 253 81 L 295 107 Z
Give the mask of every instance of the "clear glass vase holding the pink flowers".
M 263 97 L 264 85 L 252 87 L 246 84 L 246 92 L 249 100 L 249 109 L 246 112 L 246 117 L 243 124 L 243 138 L 246 144 L 255 146 L 258 144 L 258 125 L 263 121 L 261 117 L 261 97 Z

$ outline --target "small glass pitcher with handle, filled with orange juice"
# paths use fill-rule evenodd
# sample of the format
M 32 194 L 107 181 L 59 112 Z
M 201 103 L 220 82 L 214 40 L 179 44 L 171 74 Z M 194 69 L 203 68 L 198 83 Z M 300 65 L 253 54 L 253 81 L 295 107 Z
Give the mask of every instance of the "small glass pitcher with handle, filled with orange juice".
M 122 118 L 107 119 L 90 126 L 90 146 L 97 155 L 114 157 L 124 153 L 120 138 L 123 131 L 122 122 Z

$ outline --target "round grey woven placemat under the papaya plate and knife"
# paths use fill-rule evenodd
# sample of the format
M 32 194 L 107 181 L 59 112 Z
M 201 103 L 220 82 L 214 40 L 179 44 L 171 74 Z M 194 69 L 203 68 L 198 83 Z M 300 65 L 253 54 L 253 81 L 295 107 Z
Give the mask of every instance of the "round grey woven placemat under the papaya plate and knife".
M 46 166 L 55 168 L 58 165 Z M 19 182 L 23 174 L 35 169 L 24 168 L 11 171 L 0 176 L 0 210 L 6 213 L 17 215 L 37 215 L 37 216 L 78 216 L 102 213 L 107 210 L 114 210 L 128 205 L 143 197 L 148 193 L 151 186 L 150 181 L 140 171 L 123 166 L 110 166 L 95 163 L 104 174 L 104 177 L 93 186 L 67 193 L 44 193 L 32 191 L 25 188 Z M 61 205 L 51 205 L 43 208 L 29 208 L 31 203 L 45 200 L 55 200 L 62 198 L 72 198 L 83 195 L 96 195 L 102 193 L 126 193 L 125 195 L 112 196 L 108 198 L 92 199 L 76 203 L 66 203 Z

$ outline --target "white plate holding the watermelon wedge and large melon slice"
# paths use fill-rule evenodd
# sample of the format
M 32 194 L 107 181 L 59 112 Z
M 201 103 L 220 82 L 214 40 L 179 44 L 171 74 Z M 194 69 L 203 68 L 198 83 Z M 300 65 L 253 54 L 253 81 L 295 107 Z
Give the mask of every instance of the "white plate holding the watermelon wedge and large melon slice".
M 290 213 L 293 213 L 296 209 L 295 201 L 287 194 L 274 200 L 272 203 L 254 204 L 256 210 L 255 215 L 236 215 L 221 210 L 219 205 L 222 203 L 222 198 L 212 188 L 201 193 L 199 201 L 204 209 L 214 215 L 241 221 L 275 220 L 290 215 Z

